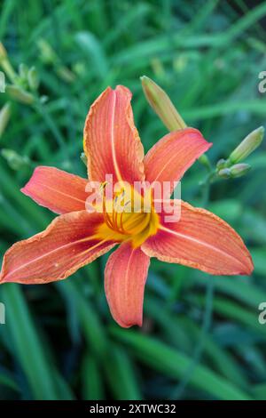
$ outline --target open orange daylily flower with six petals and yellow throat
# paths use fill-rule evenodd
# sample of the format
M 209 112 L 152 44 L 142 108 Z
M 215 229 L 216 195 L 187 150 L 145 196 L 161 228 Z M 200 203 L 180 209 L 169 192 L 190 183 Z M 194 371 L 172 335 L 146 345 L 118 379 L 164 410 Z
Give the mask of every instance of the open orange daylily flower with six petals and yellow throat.
M 126 87 L 106 89 L 90 108 L 84 152 L 90 181 L 179 181 L 212 145 L 193 128 L 168 133 L 144 156 Z M 0 283 L 44 284 L 62 280 L 120 245 L 106 263 L 106 298 L 123 327 L 142 325 L 150 257 L 215 275 L 249 275 L 251 256 L 234 229 L 213 213 L 181 203 L 181 219 L 165 213 L 88 213 L 88 181 L 54 167 L 35 169 L 21 190 L 59 216 L 43 232 L 5 253 Z M 130 195 L 130 191 L 128 193 Z M 171 206 L 173 201 L 166 197 Z M 114 206 L 115 207 L 115 206 Z

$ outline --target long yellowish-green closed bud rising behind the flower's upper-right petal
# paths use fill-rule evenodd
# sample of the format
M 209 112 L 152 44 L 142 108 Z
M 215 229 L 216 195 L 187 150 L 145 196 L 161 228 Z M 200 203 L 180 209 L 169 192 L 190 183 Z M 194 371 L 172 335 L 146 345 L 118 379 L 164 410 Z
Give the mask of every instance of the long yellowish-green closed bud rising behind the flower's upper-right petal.
M 140 77 L 145 97 L 150 106 L 160 117 L 162 123 L 169 131 L 177 131 L 186 127 L 183 118 L 177 112 L 172 101 L 160 86 L 147 77 Z

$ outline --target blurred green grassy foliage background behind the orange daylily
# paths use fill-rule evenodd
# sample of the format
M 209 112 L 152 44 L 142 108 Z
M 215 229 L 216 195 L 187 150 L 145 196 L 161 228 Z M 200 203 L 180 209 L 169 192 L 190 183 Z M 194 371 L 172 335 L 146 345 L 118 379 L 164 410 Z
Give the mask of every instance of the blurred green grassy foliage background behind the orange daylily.
M 40 86 L 34 104 L 0 93 L 11 113 L 0 137 L 1 256 L 54 216 L 20 193 L 36 165 L 86 176 L 82 127 L 108 84 L 133 92 L 145 150 L 166 128 L 145 101 L 144 74 L 214 143 L 213 163 L 264 125 L 258 74 L 266 70 L 266 2 L 257 3 L 2 1 L 9 60 L 23 88 L 25 66 L 35 66 Z M 144 326 L 130 330 L 115 325 L 106 304 L 106 257 L 59 284 L 2 285 L 0 398 L 266 399 L 266 324 L 258 322 L 266 301 L 265 143 L 247 162 L 252 171 L 216 182 L 206 207 L 245 239 L 252 277 L 211 277 L 153 260 Z M 205 176 L 199 163 L 186 173 L 184 200 L 202 205 Z

